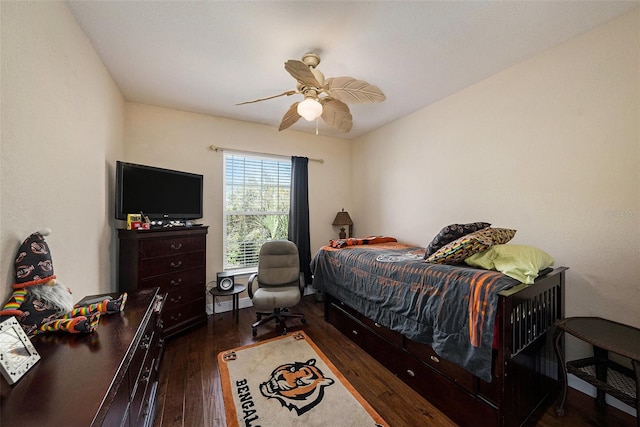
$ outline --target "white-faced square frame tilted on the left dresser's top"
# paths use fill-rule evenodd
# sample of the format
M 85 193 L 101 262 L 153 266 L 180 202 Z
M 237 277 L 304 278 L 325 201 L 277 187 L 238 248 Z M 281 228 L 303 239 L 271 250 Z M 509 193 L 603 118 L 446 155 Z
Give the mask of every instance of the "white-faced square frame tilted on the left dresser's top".
M 9 385 L 22 378 L 38 360 L 40 354 L 16 318 L 0 322 L 0 372 Z

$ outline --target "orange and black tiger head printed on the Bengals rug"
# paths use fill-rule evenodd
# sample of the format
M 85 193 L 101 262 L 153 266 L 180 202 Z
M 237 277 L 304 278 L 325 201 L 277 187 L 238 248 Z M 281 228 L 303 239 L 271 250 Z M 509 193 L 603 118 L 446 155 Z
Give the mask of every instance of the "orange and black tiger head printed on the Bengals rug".
M 322 402 L 324 388 L 334 383 L 315 363 L 315 359 L 309 359 L 278 366 L 271 378 L 260 384 L 260 392 L 267 398 L 277 399 L 290 411 L 304 414 Z

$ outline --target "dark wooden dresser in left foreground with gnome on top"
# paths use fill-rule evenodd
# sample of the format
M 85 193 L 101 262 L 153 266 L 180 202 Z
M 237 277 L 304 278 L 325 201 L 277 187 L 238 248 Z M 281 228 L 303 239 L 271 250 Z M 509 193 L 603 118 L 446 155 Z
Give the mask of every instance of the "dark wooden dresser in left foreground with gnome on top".
M 40 361 L 12 386 L 0 377 L 0 425 L 153 425 L 161 310 L 158 289 L 144 289 L 92 334 L 34 337 Z

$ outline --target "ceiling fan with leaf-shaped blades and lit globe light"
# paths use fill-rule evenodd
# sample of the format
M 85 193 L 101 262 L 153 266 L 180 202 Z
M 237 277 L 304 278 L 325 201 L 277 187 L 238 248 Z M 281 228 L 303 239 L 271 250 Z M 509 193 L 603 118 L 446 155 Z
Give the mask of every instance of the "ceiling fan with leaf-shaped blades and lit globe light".
M 378 87 L 353 77 L 333 77 L 325 79 L 316 69 L 320 57 L 315 53 L 306 53 L 302 61 L 290 59 L 284 63 L 284 69 L 298 82 L 296 90 L 288 90 L 278 95 L 236 105 L 251 104 L 280 96 L 302 94 L 304 100 L 294 103 L 285 113 L 278 130 L 284 130 L 297 122 L 300 117 L 313 121 L 322 117 L 329 126 L 347 133 L 353 126 L 353 117 L 347 104 L 382 102 L 386 96 Z

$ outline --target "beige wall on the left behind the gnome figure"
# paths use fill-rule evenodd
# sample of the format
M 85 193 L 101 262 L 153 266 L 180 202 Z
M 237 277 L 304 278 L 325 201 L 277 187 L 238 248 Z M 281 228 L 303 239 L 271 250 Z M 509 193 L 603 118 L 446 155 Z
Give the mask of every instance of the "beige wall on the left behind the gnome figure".
M 113 159 L 124 99 L 61 2 L 0 2 L 0 295 L 17 249 L 45 227 L 58 279 L 80 299 L 113 292 Z

